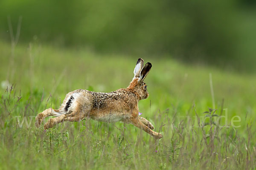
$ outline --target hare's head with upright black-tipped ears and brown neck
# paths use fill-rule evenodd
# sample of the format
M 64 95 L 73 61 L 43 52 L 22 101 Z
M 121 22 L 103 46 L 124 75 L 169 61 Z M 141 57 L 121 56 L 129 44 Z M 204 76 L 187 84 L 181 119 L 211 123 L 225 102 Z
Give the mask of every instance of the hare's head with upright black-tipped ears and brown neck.
M 144 79 L 148 75 L 152 65 L 150 62 L 147 62 L 144 66 L 143 59 L 139 58 L 137 64 L 134 68 L 134 78 L 131 81 L 128 89 L 137 94 L 139 100 L 148 98 L 147 85 L 144 82 Z

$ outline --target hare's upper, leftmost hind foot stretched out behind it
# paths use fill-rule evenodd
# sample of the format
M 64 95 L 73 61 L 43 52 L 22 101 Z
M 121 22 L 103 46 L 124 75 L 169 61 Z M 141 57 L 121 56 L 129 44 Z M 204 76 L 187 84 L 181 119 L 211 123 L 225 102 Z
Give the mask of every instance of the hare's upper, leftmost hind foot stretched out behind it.
M 47 118 L 48 116 L 61 116 L 63 113 L 61 113 L 59 110 L 55 110 L 52 108 L 46 109 L 45 111 L 39 113 L 35 117 L 35 126 L 39 127 L 43 120 Z

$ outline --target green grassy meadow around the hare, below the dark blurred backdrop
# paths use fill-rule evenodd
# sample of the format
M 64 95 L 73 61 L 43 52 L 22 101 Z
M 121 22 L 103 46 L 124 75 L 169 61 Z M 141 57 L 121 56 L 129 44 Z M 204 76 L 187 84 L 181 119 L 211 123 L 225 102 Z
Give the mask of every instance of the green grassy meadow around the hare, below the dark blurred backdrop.
M 14 55 L 11 51 L 9 44 L 0 42 L 0 81 L 8 79 L 15 86 L 0 90 L 0 169 L 256 167 L 255 75 L 184 65 L 173 59 L 102 55 L 38 44 L 18 45 Z M 70 91 L 110 92 L 127 87 L 139 57 L 153 65 L 145 79 L 150 96 L 139 102 L 140 112 L 163 139 L 155 141 L 122 122 L 88 119 L 64 122 L 47 131 L 35 127 L 35 116 L 45 108 L 58 108 Z M 218 108 L 215 114 L 222 116 L 225 111 L 221 110 L 227 109 L 229 127 L 222 127 L 224 118 L 221 127 L 203 126 L 209 122 L 204 112 L 214 107 Z M 234 122 L 241 127 L 231 126 L 233 116 L 241 118 Z M 23 122 L 20 127 L 25 119 L 28 123 L 31 119 L 31 125 Z

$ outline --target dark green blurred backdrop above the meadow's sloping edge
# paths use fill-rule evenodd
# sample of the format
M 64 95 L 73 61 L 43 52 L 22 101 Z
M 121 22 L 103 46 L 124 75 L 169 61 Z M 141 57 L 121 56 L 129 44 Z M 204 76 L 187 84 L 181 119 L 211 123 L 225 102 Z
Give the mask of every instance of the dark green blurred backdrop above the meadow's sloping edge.
M 1 0 L 0 39 L 104 54 L 172 57 L 251 72 L 256 62 L 254 0 Z

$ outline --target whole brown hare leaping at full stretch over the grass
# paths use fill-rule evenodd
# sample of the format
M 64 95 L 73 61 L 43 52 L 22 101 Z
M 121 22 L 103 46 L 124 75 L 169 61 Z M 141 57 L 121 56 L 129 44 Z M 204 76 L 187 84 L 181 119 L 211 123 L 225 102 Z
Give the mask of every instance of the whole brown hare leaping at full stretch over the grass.
M 110 93 L 92 92 L 78 89 L 68 93 L 58 110 L 49 108 L 36 116 L 35 125 L 39 127 L 48 116 L 56 116 L 44 124 L 44 129 L 64 121 L 81 121 L 91 118 L 102 122 L 131 123 L 154 136 L 162 138 L 162 134 L 153 131 L 154 126 L 147 119 L 139 116 L 138 102 L 147 99 L 147 85 L 143 82 L 152 65 L 144 66 L 139 58 L 134 68 L 134 78 L 127 88 L 120 88 Z

